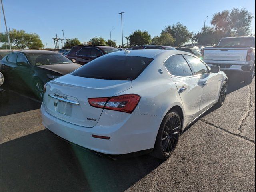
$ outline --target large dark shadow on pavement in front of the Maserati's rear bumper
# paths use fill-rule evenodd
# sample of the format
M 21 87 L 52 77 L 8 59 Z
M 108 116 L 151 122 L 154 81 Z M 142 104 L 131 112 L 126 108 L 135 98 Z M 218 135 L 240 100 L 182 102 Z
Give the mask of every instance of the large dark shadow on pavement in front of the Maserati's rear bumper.
M 42 130 L 1 144 L 1 191 L 124 191 L 162 162 L 114 161 Z

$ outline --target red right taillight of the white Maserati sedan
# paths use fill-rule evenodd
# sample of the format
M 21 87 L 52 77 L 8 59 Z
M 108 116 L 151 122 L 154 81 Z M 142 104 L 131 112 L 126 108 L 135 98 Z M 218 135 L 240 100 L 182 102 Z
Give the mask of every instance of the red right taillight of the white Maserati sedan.
M 139 101 L 140 96 L 136 94 L 88 99 L 89 104 L 93 107 L 121 111 L 126 113 L 132 113 L 138 105 Z

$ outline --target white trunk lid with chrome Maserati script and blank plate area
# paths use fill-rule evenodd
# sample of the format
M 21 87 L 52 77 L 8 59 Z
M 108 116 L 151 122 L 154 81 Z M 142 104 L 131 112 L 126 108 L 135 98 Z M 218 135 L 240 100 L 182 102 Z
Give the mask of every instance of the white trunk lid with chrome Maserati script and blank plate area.
M 88 98 L 112 97 L 131 87 L 129 80 L 93 79 L 67 74 L 47 84 L 44 105 L 46 111 L 56 118 L 93 127 L 103 109 L 90 106 Z

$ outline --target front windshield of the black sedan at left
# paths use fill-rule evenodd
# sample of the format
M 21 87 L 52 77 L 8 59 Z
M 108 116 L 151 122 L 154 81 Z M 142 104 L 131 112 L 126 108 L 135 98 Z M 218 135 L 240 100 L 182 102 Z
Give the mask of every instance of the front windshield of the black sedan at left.
M 54 65 L 71 63 L 71 61 L 61 54 L 51 53 L 28 53 L 28 59 L 32 65 Z

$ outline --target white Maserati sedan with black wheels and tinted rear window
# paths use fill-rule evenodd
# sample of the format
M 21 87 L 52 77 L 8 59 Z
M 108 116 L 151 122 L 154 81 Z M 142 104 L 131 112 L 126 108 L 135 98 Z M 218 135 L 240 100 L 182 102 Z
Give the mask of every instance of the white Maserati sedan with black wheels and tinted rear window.
M 228 78 L 188 52 L 125 50 L 48 82 L 42 123 L 65 140 L 104 154 L 174 151 L 180 133 L 213 105 Z

